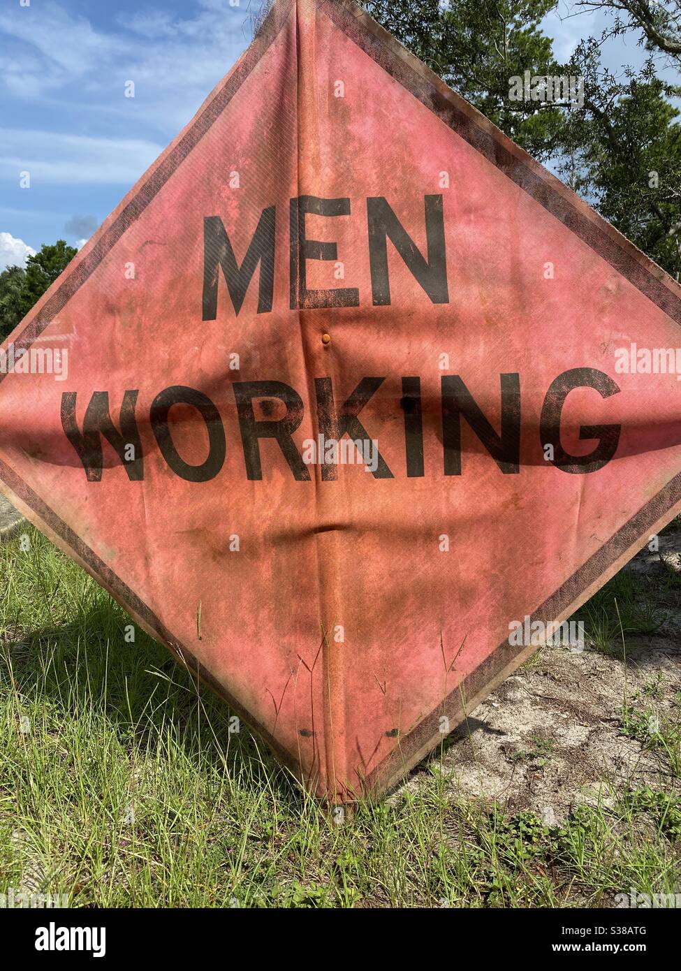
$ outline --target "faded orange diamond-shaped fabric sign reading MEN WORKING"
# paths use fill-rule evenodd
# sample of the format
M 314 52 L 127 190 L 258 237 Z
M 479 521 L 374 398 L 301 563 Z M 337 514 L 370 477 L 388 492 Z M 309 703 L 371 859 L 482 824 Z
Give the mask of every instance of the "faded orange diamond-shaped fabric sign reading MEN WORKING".
M 352 800 L 681 508 L 680 296 L 357 6 L 278 0 L 6 342 L 2 489 Z

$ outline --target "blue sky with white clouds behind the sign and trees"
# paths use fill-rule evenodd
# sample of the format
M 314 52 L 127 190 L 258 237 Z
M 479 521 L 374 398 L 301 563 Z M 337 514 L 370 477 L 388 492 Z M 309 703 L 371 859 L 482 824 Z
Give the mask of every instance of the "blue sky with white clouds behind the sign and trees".
M 248 46 L 260 2 L 3 0 L 0 269 L 92 234 Z M 560 0 L 545 22 L 559 60 L 604 23 L 569 12 Z M 607 53 L 642 56 L 633 39 Z

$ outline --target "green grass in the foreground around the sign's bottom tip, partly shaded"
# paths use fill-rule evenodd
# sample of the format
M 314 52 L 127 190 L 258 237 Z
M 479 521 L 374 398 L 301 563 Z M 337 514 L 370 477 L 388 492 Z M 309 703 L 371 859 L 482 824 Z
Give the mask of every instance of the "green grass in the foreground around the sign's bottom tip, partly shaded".
M 163 648 L 139 630 L 127 643 L 119 606 L 29 536 L 27 551 L 0 547 L 0 892 L 317 908 L 597 907 L 630 887 L 678 890 L 671 791 L 612 791 L 550 827 L 460 798 L 436 753 L 415 785 L 338 824 L 245 725 L 230 733 L 228 709 Z M 532 744 L 552 757 L 547 740 Z

